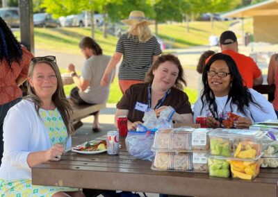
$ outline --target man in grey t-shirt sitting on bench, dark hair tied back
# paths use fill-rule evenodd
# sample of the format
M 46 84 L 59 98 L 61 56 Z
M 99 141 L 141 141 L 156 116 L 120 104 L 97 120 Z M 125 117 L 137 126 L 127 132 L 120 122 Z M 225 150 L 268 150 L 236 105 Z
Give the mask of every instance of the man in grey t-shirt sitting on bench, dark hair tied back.
M 110 85 L 115 76 L 115 68 L 108 76 L 108 85 L 101 87 L 101 78 L 108 65 L 111 56 L 103 55 L 102 49 L 91 37 L 83 37 L 79 42 L 85 63 L 82 67 L 81 76 L 78 76 L 73 64 L 67 67 L 77 87 L 70 92 L 70 98 L 78 104 L 100 104 L 106 103 L 109 95 Z M 99 112 L 95 112 L 92 131 L 99 131 Z

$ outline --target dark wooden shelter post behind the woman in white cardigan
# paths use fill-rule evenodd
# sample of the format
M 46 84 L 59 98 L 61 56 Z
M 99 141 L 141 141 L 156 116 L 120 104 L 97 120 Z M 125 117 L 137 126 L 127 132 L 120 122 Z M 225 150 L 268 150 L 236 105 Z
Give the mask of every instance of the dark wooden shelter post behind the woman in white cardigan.
M 20 37 L 28 51 L 34 53 L 33 1 L 20 0 Z

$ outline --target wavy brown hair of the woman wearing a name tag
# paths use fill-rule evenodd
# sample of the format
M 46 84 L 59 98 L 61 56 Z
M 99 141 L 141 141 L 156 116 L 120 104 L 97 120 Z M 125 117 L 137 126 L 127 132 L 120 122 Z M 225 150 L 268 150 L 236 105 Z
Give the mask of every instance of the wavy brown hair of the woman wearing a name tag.
M 152 83 L 154 80 L 154 74 L 152 74 L 152 71 L 158 69 L 158 67 L 163 64 L 164 62 L 172 62 L 174 65 L 177 65 L 179 69 L 179 74 L 177 77 L 176 82 L 174 83 L 173 87 L 180 89 L 183 91 L 183 85 L 186 86 L 186 80 L 183 76 L 183 67 L 181 66 L 181 62 L 179 61 L 179 58 L 177 58 L 175 55 L 172 54 L 165 54 L 161 55 L 155 62 L 154 65 L 149 69 L 149 71 L 146 74 L 145 82 Z

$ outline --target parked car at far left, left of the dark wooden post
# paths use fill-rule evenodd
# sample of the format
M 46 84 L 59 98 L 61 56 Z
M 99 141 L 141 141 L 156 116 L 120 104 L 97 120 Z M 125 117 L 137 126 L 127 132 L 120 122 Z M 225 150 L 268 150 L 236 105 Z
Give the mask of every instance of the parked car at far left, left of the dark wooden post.
M 0 17 L 10 27 L 20 26 L 19 8 L 0 8 Z

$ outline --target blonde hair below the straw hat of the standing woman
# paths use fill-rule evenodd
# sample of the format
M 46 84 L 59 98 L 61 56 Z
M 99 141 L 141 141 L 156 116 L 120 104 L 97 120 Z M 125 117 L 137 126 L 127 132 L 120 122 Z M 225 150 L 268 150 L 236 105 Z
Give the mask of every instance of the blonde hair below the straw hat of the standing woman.
M 132 35 L 138 35 L 139 42 L 147 42 L 153 36 L 149 26 L 147 25 L 147 22 L 130 26 L 128 33 L 129 37 Z

